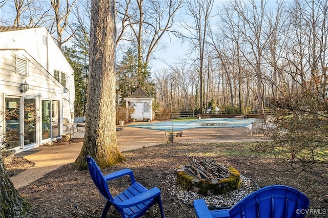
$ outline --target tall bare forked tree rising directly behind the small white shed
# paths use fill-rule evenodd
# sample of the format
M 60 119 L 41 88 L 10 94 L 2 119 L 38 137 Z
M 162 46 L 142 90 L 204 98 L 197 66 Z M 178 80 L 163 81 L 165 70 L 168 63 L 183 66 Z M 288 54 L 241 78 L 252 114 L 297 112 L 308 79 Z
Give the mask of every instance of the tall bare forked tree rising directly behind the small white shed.
M 127 40 L 136 44 L 138 53 L 138 83 L 140 86 L 144 83 L 147 75 L 145 68 L 152 57 L 160 47 L 160 39 L 165 33 L 171 31 L 174 23 L 174 17 L 178 9 L 182 6 L 182 0 L 156 0 L 147 1 L 137 0 L 136 5 L 131 1 L 119 1 L 120 10 L 118 17 L 121 23 L 121 31 L 118 41 Z M 127 26 L 129 24 L 129 28 Z M 123 31 L 131 35 L 125 34 Z

